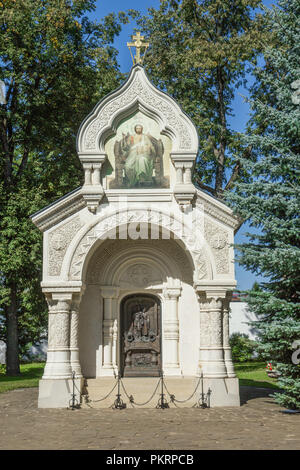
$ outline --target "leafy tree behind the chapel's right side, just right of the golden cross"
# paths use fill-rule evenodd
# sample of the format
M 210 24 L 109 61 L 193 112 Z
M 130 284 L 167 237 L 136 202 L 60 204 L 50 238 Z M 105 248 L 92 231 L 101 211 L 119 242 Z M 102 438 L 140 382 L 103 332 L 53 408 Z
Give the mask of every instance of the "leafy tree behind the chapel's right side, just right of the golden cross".
M 246 84 L 269 33 L 255 9 L 259 0 L 161 0 L 138 24 L 150 42 L 145 67 L 192 117 L 200 137 L 195 183 L 223 198 L 248 155 L 228 118 L 236 88 Z M 236 156 L 237 155 L 237 156 Z

